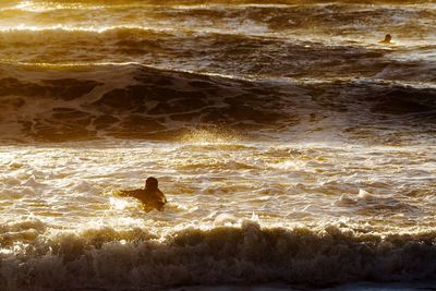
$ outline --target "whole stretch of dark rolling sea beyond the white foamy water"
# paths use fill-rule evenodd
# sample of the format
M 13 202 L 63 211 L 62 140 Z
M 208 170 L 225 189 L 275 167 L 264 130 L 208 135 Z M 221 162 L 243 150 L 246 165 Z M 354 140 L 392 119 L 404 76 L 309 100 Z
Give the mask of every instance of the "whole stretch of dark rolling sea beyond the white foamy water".
M 388 128 L 382 143 L 433 136 L 435 20 L 432 1 L 5 3 L 1 118 L 16 130 L 2 137 L 167 140 L 217 124 L 281 136 L 329 122 L 352 138 Z M 378 44 L 386 33 L 393 45 Z

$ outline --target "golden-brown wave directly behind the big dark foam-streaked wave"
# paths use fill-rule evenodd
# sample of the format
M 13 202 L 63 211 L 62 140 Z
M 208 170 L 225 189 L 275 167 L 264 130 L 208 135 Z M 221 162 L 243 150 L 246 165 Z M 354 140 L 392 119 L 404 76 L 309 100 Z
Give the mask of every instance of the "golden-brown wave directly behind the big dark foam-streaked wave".
M 0 31 L 3 63 L 141 63 L 169 70 L 258 78 L 377 77 L 434 82 L 433 46 L 391 50 L 316 39 L 237 33 L 183 34 L 167 27 L 58 27 Z M 421 56 L 421 57 L 420 57 Z M 412 58 L 413 57 L 413 58 Z

